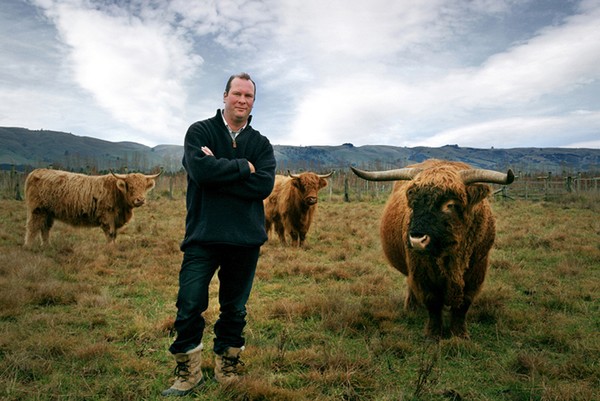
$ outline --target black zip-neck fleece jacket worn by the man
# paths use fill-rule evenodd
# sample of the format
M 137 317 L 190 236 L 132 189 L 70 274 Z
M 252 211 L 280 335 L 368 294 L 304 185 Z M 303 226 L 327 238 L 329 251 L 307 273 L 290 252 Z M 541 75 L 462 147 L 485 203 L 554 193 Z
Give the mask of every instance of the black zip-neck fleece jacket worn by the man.
M 248 125 L 234 143 L 221 111 L 192 124 L 185 135 L 185 238 L 194 244 L 260 246 L 267 240 L 263 199 L 273 190 L 275 156 L 269 140 Z M 214 156 L 200 149 L 207 146 Z M 250 161 L 255 173 L 250 173 Z

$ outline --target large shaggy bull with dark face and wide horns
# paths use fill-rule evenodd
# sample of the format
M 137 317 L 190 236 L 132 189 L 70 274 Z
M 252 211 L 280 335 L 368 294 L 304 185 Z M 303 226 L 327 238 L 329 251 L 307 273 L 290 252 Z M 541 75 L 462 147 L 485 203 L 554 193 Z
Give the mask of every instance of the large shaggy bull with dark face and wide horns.
M 407 276 L 405 308 L 415 300 L 427 308 L 425 334 L 434 338 L 442 336 L 442 312 L 449 308 L 450 333 L 468 338 L 465 317 L 483 284 L 496 236 L 487 200 L 491 189 L 483 183 L 510 184 L 512 171 L 442 160 L 390 171 L 352 170 L 371 181 L 398 181 L 380 235 L 388 261 Z

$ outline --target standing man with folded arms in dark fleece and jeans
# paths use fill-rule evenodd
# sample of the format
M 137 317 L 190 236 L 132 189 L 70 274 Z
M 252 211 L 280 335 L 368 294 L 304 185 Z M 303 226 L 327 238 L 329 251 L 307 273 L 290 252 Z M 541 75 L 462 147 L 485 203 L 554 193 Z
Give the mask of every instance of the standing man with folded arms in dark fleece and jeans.
M 218 269 L 220 314 L 214 325 L 215 379 L 238 378 L 246 302 L 260 246 L 267 240 L 263 199 L 275 180 L 269 140 L 250 126 L 256 85 L 229 78 L 223 110 L 190 126 L 184 141 L 187 217 L 177 295 L 176 380 L 163 395 L 186 395 L 202 382 L 202 335 L 209 284 Z

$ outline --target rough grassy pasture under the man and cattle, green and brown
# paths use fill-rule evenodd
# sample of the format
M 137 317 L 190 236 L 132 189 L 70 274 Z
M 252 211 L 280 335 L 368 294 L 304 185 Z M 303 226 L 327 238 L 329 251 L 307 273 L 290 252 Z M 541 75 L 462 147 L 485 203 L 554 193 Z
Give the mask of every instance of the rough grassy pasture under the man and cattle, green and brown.
M 306 249 L 262 248 L 245 379 L 184 399 L 600 399 L 597 199 L 492 202 L 497 239 L 471 340 L 432 342 L 381 252 L 384 197 L 321 198 Z M 181 197 L 154 190 L 112 247 L 99 228 L 57 222 L 50 246 L 28 251 L 24 202 L 0 200 L 0 399 L 164 399 L 184 215 Z

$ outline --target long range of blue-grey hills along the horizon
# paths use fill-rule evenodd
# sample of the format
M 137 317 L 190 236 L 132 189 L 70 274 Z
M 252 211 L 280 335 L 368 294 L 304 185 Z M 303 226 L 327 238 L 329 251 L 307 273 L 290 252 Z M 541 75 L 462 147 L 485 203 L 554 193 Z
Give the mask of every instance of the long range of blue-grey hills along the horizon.
M 460 160 L 473 166 L 515 172 L 570 174 L 600 172 L 600 149 L 513 148 L 478 149 L 447 145 L 395 147 L 382 145 L 283 146 L 274 145 L 279 171 L 403 167 L 429 158 Z M 151 171 L 181 169 L 183 146 L 148 147 L 134 142 L 109 142 L 58 131 L 0 127 L 0 168 L 46 167 L 72 171 Z

